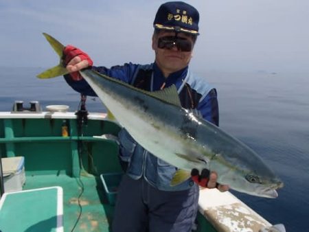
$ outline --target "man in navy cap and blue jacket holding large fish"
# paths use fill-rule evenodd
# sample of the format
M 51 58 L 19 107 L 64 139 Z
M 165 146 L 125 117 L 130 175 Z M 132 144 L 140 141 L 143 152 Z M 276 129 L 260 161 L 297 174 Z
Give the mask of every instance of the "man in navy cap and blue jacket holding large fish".
M 183 108 L 201 113 L 218 126 L 216 89 L 188 69 L 192 49 L 198 36 L 198 11 L 181 1 L 160 6 L 154 21 L 152 49 L 155 62 L 150 65 L 92 67 L 87 54 L 76 47 L 65 47 L 65 62 L 71 72 L 65 76 L 68 84 L 85 95 L 95 95 L 76 71 L 91 68 L 140 89 L 159 91 L 174 84 Z M 143 130 L 143 128 L 141 128 Z M 164 138 L 162 138 L 164 139 Z M 170 186 L 176 167 L 144 150 L 125 129 L 119 132 L 120 158 L 126 164 L 126 174 L 118 189 L 113 231 L 191 231 L 198 209 L 198 185 L 226 191 L 217 185 L 216 173 L 192 170 L 192 178 Z M 198 183 L 198 185 L 194 184 Z

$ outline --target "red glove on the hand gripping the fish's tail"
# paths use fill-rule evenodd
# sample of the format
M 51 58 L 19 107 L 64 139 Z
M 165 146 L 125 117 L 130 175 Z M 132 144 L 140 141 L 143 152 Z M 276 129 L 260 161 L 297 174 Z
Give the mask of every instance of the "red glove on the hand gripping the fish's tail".
M 65 62 L 65 65 L 67 65 L 76 56 L 80 57 L 80 61 L 87 60 L 88 63 L 89 63 L 89 66 L 93 65 L 93 61 L 88 56 L 88 54 L 85 53 L 84 51 L 78 49 L 77 47 L 67 45 L 67 47 L 65 47 L 65 49 L 63 49 L 63 60 Z M 82 76 L 80 75 L 79 71 L 75 71 L 73 73 L 70 73 L 70 75 L 71 75 L 71 78 L 73 80 L 81 80 L 82 79 Z

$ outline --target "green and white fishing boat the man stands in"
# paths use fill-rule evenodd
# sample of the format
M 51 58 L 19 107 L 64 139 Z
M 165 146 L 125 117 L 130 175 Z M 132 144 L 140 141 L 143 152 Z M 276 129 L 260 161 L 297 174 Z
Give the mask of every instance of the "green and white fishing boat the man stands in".
M 119 124 L 84 107 L 15 102 L 0 112 L 0 231 L 111 231 Z M 15 166 L 14 166 L 15 165 Z M 195 231 L 260 231 L 271 223 L 230 192 L 201 189 Z

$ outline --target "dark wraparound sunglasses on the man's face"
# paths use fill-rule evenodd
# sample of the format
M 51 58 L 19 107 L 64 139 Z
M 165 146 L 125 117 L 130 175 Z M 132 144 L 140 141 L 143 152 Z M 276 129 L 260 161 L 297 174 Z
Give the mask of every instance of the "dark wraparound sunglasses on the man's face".
M 177 47 L 179 51 L 192 51 L 193 43 L 186 38 L 176 36 L 163 36 L 158 39 L 158 47 L 160 49 L 172 49 Z

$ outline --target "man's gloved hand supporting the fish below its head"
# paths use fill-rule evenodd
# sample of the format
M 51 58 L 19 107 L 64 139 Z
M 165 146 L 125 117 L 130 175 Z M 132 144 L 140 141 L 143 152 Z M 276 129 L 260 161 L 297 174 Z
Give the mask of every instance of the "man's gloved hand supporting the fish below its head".
M 207 187 L 209 189 L 217 188 L 220 192 L 229 190 L 229 185 L 220 185 L 217 183 L 218 175 L 216 172 L 209 172 L 207 169 L 203 169 L 201 175 L 197 169 L 191 171 L 192 180 L 201 187 Z

